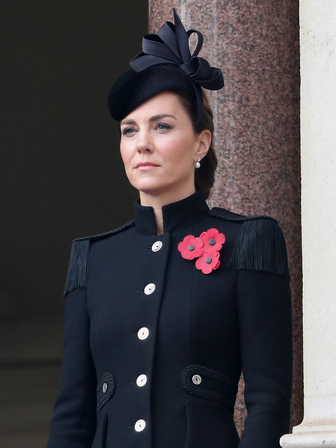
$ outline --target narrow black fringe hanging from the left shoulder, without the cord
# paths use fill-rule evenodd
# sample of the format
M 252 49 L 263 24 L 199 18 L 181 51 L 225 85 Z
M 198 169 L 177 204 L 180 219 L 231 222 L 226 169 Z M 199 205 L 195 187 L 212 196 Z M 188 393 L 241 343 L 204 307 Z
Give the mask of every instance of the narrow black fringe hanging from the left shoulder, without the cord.
M 89 239 L 73 241 L 63 297 L 74 288 L 86 287 L 89 246 Z

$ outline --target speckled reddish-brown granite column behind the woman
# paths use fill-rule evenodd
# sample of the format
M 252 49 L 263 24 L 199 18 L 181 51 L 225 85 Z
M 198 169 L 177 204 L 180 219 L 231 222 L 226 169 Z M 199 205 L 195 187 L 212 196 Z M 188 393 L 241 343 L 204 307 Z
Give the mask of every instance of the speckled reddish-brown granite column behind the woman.
M 209 206 L 267 214 L 283 229 L 293 294 L 292 425 L 302 420 L 302 267 L 298 0 L 149 0 L 149 32 L 177 10 L 186 29 L 204 35 L 200 56 L 223 71 L 209 92 L 219 159 Z M 195 40 L 190 38 L 194 48 Z M 235 419 L 246 410 L 243 381 Z

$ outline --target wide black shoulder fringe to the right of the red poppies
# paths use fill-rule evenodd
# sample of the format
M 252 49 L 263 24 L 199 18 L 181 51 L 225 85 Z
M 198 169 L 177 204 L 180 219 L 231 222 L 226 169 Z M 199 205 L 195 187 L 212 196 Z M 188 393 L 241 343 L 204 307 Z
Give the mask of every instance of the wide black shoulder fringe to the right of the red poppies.
M 246 219 L 227 267 L 254 269 L 290 279 L 284 234 L 275 220 Z

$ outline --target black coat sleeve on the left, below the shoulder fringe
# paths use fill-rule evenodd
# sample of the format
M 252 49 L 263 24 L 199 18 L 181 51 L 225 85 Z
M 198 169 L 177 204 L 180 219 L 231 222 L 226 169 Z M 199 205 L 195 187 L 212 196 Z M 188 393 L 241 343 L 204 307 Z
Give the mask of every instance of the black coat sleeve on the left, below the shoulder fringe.
M 89 344 L 86 288 L 65 296 L 65 338 L 60 393 L 53 407 L 47 448 L 89 448 L 95 435 L 95 366 Z

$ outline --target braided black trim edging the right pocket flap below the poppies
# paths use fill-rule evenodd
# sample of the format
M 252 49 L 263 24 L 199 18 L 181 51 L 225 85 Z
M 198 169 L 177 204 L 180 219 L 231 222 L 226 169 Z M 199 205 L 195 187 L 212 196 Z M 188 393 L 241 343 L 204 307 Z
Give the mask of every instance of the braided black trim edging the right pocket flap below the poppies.
M 233 398 L 230 400 L 228 397 L 213 392 L 207 389 L 203 389 L 196 384 L 191 382 L 191 378 L 193 375 L 203 375 L 207 376 L 209 378 L 218 379 L 222 383 L 227 384 L 233 389 L 234 392 L 234 400 Z M 216 370 L 209 369 L 205 366 L 198 366 L 197 364 L 190 364 L 190 366 L 186 366 L 185 369 L 182 370 L 181 373 L 181 384 L 183 388 L 185 388 L 186 391 L 193 393 L 198 396 L 202 396 L 204 398 L 208 398 L 209 400 L 218 401 L 219 403 L 222 403 L 223 405 L 227 406 L 228 409 L 230 409 L 233 412 L 235 401 L 236 401 L 236 395 L 238 391 L 238 385 L 228 377 L 227 375 L 224 375 L 221 372 L 217 372 Z

